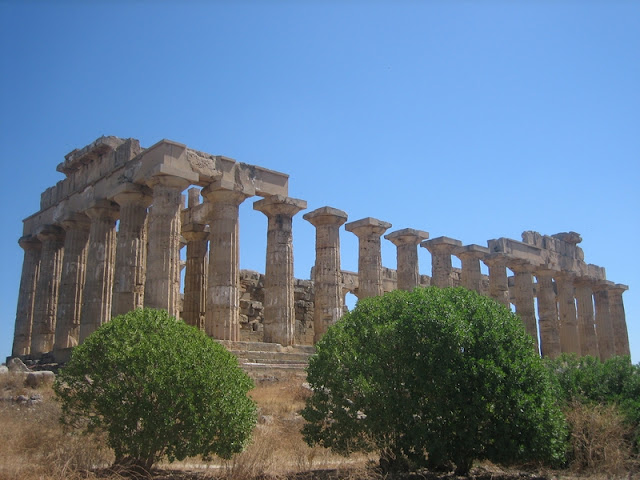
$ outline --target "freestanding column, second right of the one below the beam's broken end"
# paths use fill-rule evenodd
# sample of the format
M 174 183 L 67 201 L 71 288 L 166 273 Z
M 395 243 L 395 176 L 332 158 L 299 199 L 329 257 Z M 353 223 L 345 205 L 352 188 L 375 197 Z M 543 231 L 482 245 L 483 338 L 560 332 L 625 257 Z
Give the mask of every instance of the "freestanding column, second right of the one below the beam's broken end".
M 344 226 L 347 232 L 358 237 L 358 298 L 377 297 L 384 293 L 380 236 L 390 227 L 390 223 L 371 217 Z

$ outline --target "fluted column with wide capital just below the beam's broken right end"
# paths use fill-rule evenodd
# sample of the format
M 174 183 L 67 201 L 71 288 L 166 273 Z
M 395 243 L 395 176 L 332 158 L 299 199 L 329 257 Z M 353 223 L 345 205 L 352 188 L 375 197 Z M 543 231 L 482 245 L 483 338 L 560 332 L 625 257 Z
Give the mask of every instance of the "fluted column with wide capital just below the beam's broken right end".
M 273 195 L 253 204 L 269 219 L 264 279 L 264 338 L 267 343 L 293 345 L 296 312 L 293 297 L 293 216 L 307 202 Z

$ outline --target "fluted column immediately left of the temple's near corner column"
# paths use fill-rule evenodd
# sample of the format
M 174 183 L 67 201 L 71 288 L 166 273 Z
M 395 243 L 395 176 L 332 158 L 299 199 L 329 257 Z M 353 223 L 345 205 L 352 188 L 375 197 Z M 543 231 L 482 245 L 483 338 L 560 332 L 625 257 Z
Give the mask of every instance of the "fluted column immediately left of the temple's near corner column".
M 115 317 L 144 306 L 146 219 L 151 196 L 146 187 L 131 183 L 125 185 L 113 199 L 120 205 L 111 306 L 111 316 Z

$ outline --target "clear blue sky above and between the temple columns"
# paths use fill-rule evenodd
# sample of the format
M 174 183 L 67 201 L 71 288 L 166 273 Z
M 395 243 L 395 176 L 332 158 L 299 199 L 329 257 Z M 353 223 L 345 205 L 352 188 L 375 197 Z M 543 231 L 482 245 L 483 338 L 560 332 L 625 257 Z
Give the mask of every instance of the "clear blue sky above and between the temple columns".
M 286 172 L 309 210 L 392 230 L 481 245 L 579 232 L 585 260 L 630 286 L 640 361 L 639 2 L 0 0 L 0 48 L 2 358 L 22 219 L 66 153 L 116 135 Z M 251 203 L 241 266 L 264 271 Z M 308 278 L 303 213 L 295 269 Z M 341 240 L 357 270 L 356 237 Z

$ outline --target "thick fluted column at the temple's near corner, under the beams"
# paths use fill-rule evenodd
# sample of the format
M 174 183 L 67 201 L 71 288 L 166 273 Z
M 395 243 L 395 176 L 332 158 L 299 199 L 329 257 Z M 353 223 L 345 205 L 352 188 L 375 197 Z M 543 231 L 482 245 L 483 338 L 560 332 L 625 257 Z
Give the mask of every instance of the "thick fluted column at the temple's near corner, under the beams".
M 173 175 L 156 175 L 147 181 L 152 190 L 149 212 L 147 276 L 144 306 L 162 308 L 180 316 L 180 210 L 182 191 L 189 180 Z

